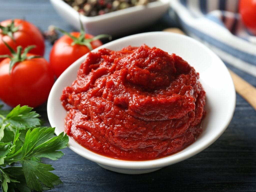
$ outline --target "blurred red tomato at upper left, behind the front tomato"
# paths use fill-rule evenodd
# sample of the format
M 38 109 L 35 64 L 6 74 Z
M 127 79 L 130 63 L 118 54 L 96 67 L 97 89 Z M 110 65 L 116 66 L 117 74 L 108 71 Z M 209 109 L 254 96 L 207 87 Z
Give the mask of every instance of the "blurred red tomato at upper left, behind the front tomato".
M 14 26 L 11 26 L 12 20 L 5 20 L 0 23 L 1 26 L 8 27 L 7 31 L 10 31 L 17 27 L 16 31 L 13 32 L 13 39 L 8 36 L 7 34 L 4 34 L 4 31 L 0 29 L 0 55 L 10 55 L 10 50 L 6 47 L 3 40 L 14 50 L 16 50 L 17 46 L 22 46 L 23 48 L 29 46 L 29 45 L 35 45 L 36 47 L 30 51 L 31 54 L 44 56 L 45 51 L 45 44 L 44 44 L 44 37 L 42 36 L 39 29 L 22 19 L 14 19 Z M 3 58 L 0 58 L 0 61 L 2 61 Z

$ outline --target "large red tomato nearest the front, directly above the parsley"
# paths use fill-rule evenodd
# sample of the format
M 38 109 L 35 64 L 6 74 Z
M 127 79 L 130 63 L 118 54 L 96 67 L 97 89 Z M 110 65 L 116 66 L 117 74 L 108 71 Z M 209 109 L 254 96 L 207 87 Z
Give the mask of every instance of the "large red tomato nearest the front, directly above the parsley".
M 9 74 L 9 62 L 9 58 L 0 62 L 0 99 L 12 107 L 44 103 L 54 83 L 49 63 L 44 58 L 26 59 L 17 62 Z

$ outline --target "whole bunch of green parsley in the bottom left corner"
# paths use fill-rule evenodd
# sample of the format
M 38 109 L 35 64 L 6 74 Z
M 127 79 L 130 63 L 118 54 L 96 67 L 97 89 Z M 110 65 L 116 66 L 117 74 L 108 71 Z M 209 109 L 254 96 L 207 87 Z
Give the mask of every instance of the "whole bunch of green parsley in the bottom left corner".
M 2 191 L 31 192 L 54 188 L 61 180 L 44 164 L 42 157 L 57 160 L 68 144 L 64 133 L 54 135 L 55 128 L 39 127 L 39 114 L 28 106 L 12 111 L 0 105 L 0 182 Z M 18 166 L 17 166 L 18 165 Z

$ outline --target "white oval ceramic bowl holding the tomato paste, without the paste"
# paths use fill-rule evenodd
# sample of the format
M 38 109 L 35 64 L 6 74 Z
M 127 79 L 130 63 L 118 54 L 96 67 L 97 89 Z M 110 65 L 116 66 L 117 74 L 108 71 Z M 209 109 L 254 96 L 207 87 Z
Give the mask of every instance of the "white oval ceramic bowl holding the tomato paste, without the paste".
M 103 168 L 126 174 L 153 172 L 204 150 L 225 131 L 233 116 L 236 102 L 233 81 L 224 63 L 210 49 L 190 37 L 169 32 L 142 33 L 109 42 L 93 51 L 100 48 L 120 50 L 128 45 L 140 46 L 144 43 L 150 47 L 161 48 L 169 54 L 176 53 L 200 73 L 199 80 L 206 91 L 207 114 L 202 122 L 203 132 L 193 144 L 176 154 L 151 161 L 122 161 L 105 157 L 87 150 L 69 138 L 68 147 L 77 154 Z M 60 95 L 63 88 L 70 86 L 76 79 L 77 70 L 85 58 L 86 55 L 65 70 L 51 89 L 47 112 L 51 126 L 56 127 L 57 135 L 64 131 L 64 118 L 67 114 L 61 105 Z

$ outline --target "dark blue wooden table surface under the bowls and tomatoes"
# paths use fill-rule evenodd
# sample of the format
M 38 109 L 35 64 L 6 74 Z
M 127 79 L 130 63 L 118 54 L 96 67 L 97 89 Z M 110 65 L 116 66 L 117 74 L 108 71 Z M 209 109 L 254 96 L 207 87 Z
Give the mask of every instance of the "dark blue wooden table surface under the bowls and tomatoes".
M 42 30 L 56 25 L 72 31 L 48 0 L 1 0 L 0 21 L 25 18 Z M 168 14 L 152 26 L 135 33 L 176 27 Z M 129 35 L 129 34 L 128 34 Z M 118 38 L 118 37 L 116 37 Z M 51 45 L 46 42 L 45 58 Z M 256 86 L 256 78 L 229 66 Z M 0 82 L 1 83 L 1 82 Z M 1 84 L 0 84 L 1 86 Z M 256 97 L 256 95 L 255 95 Z M 1 101 L 0 101 L 1 104 Z M 8 108 L 8 106 L 5 106 Z M 49 125 L 46 103 L 35 109 Z M 125 175 L 99 167 L 69 148 L 57 161 L 45 161 L 55 168 L 63 184 L 50 191 L 256 191 L 256 112 L 239 95 L 227 130 L 210 147 L 183 162 L 143 175 Z

